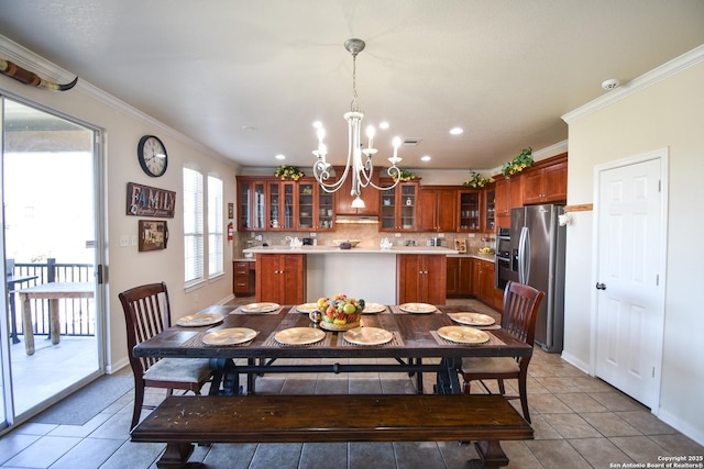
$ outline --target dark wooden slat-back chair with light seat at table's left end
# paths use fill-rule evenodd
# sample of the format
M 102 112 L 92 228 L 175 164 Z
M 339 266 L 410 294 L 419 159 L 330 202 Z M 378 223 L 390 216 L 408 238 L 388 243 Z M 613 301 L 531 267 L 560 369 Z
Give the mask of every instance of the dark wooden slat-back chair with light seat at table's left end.
M 138 358 L 134 347 L 170 326 L 170 306 L 166 284 L 150 283 L 123 291 L 118 295 L 124 310 L 130 366 L 134 375 L 134 410 L 132 425 L 140 421 L 145 388 L 162 388 L 172 394 L 174 389 L 200 394 L 202 386 L 213 372 L 207 358 Z

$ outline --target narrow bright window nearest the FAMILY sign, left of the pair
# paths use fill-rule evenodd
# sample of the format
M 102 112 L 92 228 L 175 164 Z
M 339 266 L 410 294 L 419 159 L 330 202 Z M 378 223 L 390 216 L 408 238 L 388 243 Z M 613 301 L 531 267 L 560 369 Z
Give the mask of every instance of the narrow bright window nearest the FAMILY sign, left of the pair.
M 184 281 L 186 287 L 204 281 L 205 276 L 205 215 L 204 175 L 194 168 L 184 168 Z

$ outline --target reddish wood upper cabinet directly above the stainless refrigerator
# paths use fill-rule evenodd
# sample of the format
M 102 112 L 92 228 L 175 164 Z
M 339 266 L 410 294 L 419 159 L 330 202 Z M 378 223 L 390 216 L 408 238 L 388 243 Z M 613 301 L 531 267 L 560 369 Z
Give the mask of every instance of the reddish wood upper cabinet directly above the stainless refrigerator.
M 524 203 L 566 202 L 566 154 L 540 161 L 522 175 Z

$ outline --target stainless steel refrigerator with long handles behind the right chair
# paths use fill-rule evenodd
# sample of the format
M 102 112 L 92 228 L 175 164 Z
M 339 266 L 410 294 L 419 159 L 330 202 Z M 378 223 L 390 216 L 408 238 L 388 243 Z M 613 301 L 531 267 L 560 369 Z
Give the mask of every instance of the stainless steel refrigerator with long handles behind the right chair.
M 561 205 L 528 205 L 510 213 L 512 280 L 546 293 L 536 323 L 536 343 L 562 351 L 564 332 L 564 247 Z

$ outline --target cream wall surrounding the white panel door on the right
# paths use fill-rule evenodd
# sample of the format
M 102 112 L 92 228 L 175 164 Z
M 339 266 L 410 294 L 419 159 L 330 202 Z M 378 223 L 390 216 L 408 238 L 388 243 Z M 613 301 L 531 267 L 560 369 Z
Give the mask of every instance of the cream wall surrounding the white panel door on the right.
M 686 64 L 685 68 L 682 64 Z M 658 78 L 654 78 L 658 77 Z M 698 293 L 704 249 L 704 47 L 574 111 L 569 123 L 568 203 L 592 203 L 594 167 L 654 149 L 670 152 L 666 323 L 659 416 L 704 444 L 704 311 Z M 638 89 L 631 92 L 628 87 Z M 587 108 L 585 107 L 585 108 Z M 592 212 L 576 212 L 568 231 L 563 357 L 591 365 Z

